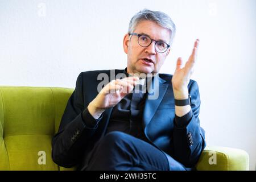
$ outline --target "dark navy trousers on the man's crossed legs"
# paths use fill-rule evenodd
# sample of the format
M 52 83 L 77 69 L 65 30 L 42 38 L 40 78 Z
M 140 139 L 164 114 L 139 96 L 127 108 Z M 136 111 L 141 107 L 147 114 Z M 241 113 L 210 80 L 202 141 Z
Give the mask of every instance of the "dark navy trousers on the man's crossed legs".
M 158 148 L 120 131 L 112 131 L 99 140 L 88 156 L 84 170 L 185 170 L 174 159 L 168 159 Z M 172 161 L 170 161 L 172 160 Z

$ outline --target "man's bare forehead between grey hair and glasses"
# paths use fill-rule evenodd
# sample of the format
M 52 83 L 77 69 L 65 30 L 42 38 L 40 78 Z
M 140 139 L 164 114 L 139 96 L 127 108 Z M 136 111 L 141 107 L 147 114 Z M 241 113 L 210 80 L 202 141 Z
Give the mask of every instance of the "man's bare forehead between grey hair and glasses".
M 146 34 L 149 35 L 151 39 L 163 40 L 164 42 L 169 42 L 171 38 L 170 30 L 150 20 L 139 22 L 134 32 L 137 34 Z

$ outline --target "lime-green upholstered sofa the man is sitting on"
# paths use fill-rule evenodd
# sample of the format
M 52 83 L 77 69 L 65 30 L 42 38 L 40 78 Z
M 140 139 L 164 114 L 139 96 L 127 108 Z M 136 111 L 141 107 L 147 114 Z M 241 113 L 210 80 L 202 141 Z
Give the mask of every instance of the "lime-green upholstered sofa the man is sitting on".
M 53 163 L 51 139 L 73 89 L 0 86 L 0 170 L 73 170 Z M 208 146 L 198 170 L 248 170 L 243 150 Z

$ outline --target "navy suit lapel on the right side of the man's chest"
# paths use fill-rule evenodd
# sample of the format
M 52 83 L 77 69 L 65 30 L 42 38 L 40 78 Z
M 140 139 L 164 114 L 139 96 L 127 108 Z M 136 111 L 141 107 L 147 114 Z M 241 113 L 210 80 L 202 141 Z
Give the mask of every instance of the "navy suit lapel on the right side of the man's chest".
M 144 127 L 146 127 L 148 123 L 150 123 L 152 117 L 154 116 L 156 110 L 158 109 L 158 106 L 163 100 L 168 85 L 169 83 L 160 78 L 158 75 L 154 77 L 154 80 L 152 81 L 152 86 L 150 86 L 149 88 L 147 98 L 145 101 L 142 119 Z

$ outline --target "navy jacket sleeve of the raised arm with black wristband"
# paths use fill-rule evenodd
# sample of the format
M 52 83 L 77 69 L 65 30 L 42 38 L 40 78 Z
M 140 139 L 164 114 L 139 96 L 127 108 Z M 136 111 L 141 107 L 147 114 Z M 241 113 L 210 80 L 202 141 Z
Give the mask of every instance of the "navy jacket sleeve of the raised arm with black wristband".
M 196 81 L 191 80 L 189 86 L 191 110 L 183 118 L 174 119 L 174 158 L 186 167 L 193 167 L 204 150 L 205 131 L 200 127 L 200 94 Z

